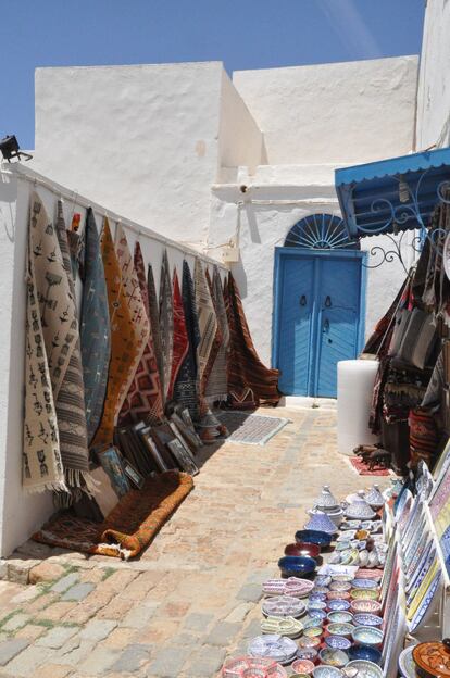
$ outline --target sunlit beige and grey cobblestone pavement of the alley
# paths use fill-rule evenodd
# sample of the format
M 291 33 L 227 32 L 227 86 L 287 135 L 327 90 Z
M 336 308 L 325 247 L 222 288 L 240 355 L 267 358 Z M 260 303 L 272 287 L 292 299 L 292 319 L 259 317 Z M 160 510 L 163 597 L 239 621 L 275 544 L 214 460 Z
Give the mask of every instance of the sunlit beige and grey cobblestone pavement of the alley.
M 263 413 L 292 423 L 265 447 L 208 448 L 193 492 L 139 561 L 28 542 L 3 562 L 1 678 L 214 678 L 245 652 L 261 582 L 322 484 L 343 498 L 372 481 L 337 453 L 334 410 Z

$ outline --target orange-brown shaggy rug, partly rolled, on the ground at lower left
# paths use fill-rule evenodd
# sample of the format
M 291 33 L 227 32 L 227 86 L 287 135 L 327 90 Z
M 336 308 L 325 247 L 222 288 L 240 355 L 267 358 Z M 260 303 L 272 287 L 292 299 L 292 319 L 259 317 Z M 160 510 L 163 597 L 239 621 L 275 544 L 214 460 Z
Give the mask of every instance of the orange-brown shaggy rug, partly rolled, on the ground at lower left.
M 129 490 L 103 523 L 58 514 L 33 535 L 35 541 L 95 555 L 139 555 L 193 488 L 190 476 L 168 470 Z

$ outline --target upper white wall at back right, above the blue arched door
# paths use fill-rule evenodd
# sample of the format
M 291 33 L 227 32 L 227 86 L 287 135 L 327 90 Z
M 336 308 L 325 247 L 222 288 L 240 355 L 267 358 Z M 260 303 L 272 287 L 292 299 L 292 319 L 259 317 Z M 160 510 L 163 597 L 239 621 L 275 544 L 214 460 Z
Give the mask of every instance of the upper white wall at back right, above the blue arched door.
M 358 164 L 412 149 L 417 56 L 236 71 L 267 163 Z

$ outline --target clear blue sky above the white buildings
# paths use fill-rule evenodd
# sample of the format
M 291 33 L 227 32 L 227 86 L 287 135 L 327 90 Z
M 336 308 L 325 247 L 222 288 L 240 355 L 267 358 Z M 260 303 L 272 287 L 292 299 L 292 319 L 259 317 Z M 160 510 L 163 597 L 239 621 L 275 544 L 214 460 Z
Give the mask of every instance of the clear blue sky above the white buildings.
M 416 54 L 424 0 L 0 0 L 0 138 L 34 147 L 37 66 L 232 71 Z

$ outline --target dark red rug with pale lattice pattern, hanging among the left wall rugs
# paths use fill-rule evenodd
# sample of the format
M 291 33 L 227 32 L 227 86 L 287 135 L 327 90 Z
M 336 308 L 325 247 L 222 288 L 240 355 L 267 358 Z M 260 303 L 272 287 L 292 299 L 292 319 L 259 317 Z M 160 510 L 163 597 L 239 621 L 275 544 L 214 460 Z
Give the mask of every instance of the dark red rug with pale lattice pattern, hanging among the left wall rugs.
M 149 297 L 147 290 L 146 269 L 139 242 L 135 244 L 134 264 L 139 281 L 139 290 L 147 318 L 149 318 Z M 135 377 L 123 404 L 118 423 L 129 426 L 139 420 L 159 424 L 164 417 L 160 374 L 154 354 L 153 335 L 149 325 L 149 340 L 143 349 Z

